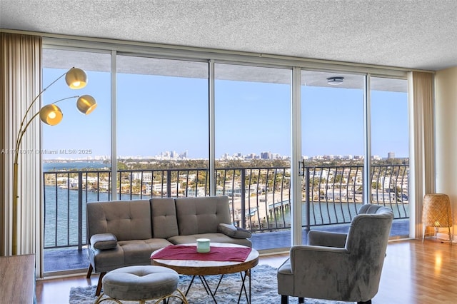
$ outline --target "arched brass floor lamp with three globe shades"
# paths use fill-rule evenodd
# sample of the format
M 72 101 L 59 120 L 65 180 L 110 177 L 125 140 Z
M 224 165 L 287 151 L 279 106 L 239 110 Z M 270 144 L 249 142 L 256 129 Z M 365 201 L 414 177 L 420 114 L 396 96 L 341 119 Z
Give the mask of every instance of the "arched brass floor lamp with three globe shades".
M 33 116 L 29 118 L 31 114 L 29 114 L 32 106 L 34 103 L 39 100 L 39 97 L 41 94 L 46 91 L 47 88 L 52 86 L 56 81 L 58 81 L 60 78 L 65 76 L 65 81 L 66 84 L 70 88 L 78 89 L 78 88 L 84 88 L 87 84 L 87 75 L 86 72 L 84 72 L 81 69 L 77 68 L 71 68 L 69 71 L 66 71 L 66 73 L 62 74 L 54 80 L 49 86 L 46 86 L 46 88 L 43 89 L 35 98 L 33 101 L 31 101 L 29 108 L 27 108 L 26 113 L 24 114 L 24 117 L 21 120 L 21 126 L 19 127 L 19 131 L 16 137 L 16 146 L 14 146 L 14 166 L 13 166 L 13 232 L 12 232 L 12 254 L 17 255 L 17 230 L 18 230 L 18 157 L 19 157 L 19 149 L 21 148 L 21 141 L 22 137 L 24 136 L 24 133 L 26 133 L 27 128 L 30 126 L 30 123 L 36 118 L 36 116 L 40 116 L 41 121 L 44 123 L 50 125 L 50 126 L 55 126 L 56 124 L 60 123 L 62 120 L 63 114 L 61 109 L 56 106 L 56 103 L 64 100 L 68 100 L 71 98 L 78 98 L 76 101 L 76 107 L 81 113 L 84 114 L 89 114 L 97 106 L 96 100 L 94 97 L 90 95 L 83 95 L 83 96 L 71 96 L 71 97 L 66 97 L 59 99 L 58 101 L 55 101 L 54 103 L 47 104 L 46 106 L 43 106 L 40 108 L 40 110 L 37 113 L 34 113 Z

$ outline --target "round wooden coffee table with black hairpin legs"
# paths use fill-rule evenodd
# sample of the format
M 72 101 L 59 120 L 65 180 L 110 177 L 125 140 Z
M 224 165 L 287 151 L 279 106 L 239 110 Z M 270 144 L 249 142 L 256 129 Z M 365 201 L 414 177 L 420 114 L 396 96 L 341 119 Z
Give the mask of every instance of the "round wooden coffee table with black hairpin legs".
M 192 244 L 182 244 L 182 245 L 196 245 L 195 243 Z M 237 244 L 229 244 L 229 243 L 211 243 L 211 246 L 214 247 L 246 247 L 243 245 Z M 158 253 L 160 250 L 154 251 L 151 254 L 151 257 Z M 208 288 L 209 292 L 211 293 L 211 297 L 214 300 L 214 303 L 217 303 L 216 295 L 217 288 L 219 288 L 219 284 L 221 283 L 222 278 L 224 278 L 225 274 L 229 273 L 240 273 L 241 275 L 241 290 L 238 296 L 238 303 L 241 300 L 241 295 L 244 290 L 244 294 L 246 295 L 246 300 L 248 303 L 251 303 L 251 268 L 255 267 L 258 264 L 258 251 L 255 249 L 251 249 L 251 253 L 249 253 L 246 260 L 243 262 L 233 262 L 233 261 L 217 261 L 217 260 L 164 260 L 164 259 L 154 259 L 151 258 L 152 265 L 159 265 L 168 267 L 171 269 L 176 270 L 177 273 L 181 275 L 192 275 L 191 283 L 186 290 L 186 295 L 189 293 L 189 289 L 191 288 L 192 283 L 194 282 L 194 278 L 199 276 L 201 282 L 204 284 L 205 288 Z M 219 283 L 216 287 L 216 290 L 211 291 L 209 288 L 208 283 L 206 282 L 205 275 L 221 275 L 219 279 Z M 249 282 L 249 292 L 246 292 L 246 285 L 245 280 L 246 276 L 248 276 Z

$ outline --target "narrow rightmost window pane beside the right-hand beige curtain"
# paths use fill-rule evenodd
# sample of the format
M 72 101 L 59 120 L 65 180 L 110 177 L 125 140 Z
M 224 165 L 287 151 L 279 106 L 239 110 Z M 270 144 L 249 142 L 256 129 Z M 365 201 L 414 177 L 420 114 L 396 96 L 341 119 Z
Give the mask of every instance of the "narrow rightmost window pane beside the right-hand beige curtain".
M 409 218 L 408 83 L 406 79 L 371 77 L 371 203 Z

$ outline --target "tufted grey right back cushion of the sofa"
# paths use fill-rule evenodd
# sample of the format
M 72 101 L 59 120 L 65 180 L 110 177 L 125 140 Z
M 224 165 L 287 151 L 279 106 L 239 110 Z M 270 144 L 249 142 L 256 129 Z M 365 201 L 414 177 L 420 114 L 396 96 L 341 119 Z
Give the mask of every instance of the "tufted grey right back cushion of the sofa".
M 229 198 L 175 198 L 179 235 L 216 233 L 219 223 L 231 223 Z

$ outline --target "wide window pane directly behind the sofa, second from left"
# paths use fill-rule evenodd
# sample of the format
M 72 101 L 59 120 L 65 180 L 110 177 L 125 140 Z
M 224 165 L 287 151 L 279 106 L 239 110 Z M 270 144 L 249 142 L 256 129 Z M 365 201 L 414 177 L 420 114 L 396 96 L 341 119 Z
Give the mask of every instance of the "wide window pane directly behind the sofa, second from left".
M 207 196 L 208 63 L 117 56 L 118 197 Z

